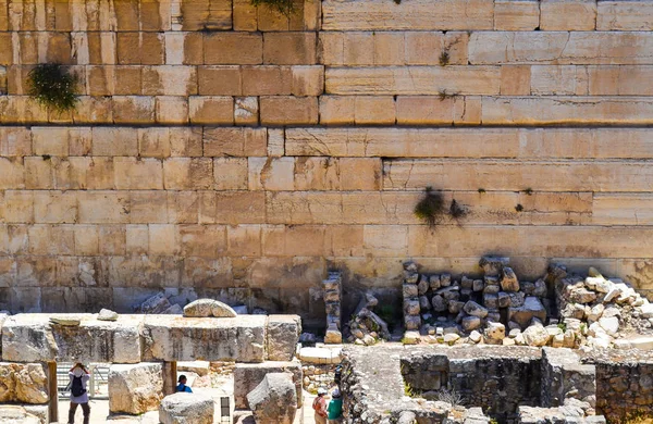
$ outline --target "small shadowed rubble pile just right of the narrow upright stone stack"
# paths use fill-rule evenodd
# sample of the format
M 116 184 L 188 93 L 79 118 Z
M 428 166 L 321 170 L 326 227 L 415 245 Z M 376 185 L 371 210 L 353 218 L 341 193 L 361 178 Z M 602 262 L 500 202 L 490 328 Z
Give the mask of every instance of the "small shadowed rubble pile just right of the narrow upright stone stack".
M 347 341 L 356 345 L 374 345 L 380 339 L 390 340 L 387 324 L 373 312 L 379 299 L 366 292 L 347 323 Z

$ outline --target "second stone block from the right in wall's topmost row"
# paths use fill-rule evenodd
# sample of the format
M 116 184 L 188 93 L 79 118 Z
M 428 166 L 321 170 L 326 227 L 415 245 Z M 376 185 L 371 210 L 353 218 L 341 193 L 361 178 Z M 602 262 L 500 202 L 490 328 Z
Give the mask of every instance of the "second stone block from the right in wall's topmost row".
M 594 30 L 596 1 L 543 0 L 540 3 L 542 30 Z

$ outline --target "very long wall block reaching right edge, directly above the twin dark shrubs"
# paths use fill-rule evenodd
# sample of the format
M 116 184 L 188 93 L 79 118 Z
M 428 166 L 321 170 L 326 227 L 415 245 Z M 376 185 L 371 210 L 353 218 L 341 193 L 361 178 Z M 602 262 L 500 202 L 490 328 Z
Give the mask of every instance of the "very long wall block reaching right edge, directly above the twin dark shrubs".
M 453 190 L 529 187 L 535 191 L 646 191 L 649 171 L 643 164 L 638 161 L 614 166 L 609 161 L 390 160 L 383 163 L 383 188 L 420 189 L 438 183 L 439 188 Z

